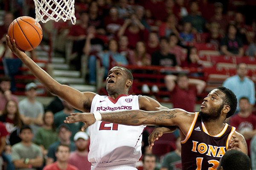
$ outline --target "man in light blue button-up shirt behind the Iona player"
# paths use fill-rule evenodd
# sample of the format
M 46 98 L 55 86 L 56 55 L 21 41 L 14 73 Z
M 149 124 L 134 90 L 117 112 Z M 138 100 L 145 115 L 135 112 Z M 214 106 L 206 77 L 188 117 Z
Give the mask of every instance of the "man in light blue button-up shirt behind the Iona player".
M 253 107 L 255 104 L 255 85 L 252 80 L 246 77 L 247 73 L 247 64 L 239 63 L 236 66 L 236 75 L 227 78 L 223 82 L 223 86 L 232 90 L 238 101 L 243 96 L 247 97 L 251 107 Z M 239 106 L 237 106 L 237 111 L 239 111 Z

